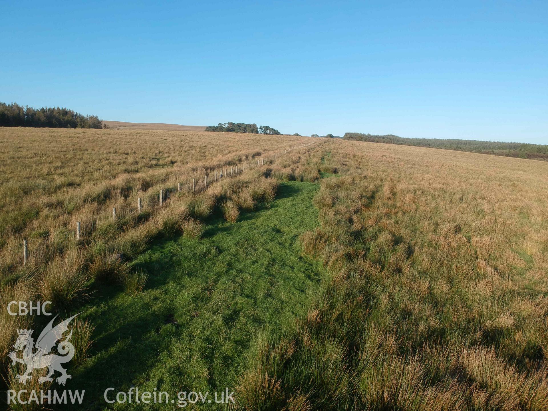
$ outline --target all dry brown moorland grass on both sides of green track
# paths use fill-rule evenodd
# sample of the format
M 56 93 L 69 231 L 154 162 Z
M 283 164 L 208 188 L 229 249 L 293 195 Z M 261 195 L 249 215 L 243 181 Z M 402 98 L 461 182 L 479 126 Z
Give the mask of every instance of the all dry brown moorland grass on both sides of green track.
M 244 405 L 545 409 L 548 164 L 356 141 L 302 147 L 308 141 L 0 129 L 0 173 L 9 175 L 0 183 L 0 300 L 32 299 L 48 289 L 39 280 L 55 276 L 72 284 L 72 271 L 58 270 L 72 252 L 84 253 L 98 282 L 123 281 L 118 253 L 142 252 L 174 224 L 195 232 L 177 210 L 202 219 L 224 201 L 252 210 L 273 198 L 272 177 L 316 181 L 319 169 L 336 168 L 340 178 L 322 180 L 314 200 L 320 226 L 301 238 L 303 254 L 328 275 L 293 326 L 252 350 Z M 265 164 L 248 169 L 256 158 Z M 224 179 L 214 182 L 221 168 Z M 24 270 L 23 238 L 31 253 Z M 0 351 L 13 343 L 13 321 Z

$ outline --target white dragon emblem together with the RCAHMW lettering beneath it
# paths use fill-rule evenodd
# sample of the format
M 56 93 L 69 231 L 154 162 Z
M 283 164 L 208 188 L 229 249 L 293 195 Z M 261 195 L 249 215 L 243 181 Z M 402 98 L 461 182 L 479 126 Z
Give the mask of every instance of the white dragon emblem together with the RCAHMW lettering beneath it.
M 16 378 L 19 383 L 26 385 L 27 381 L 32 378 L 32 371 L 35 369 L 48 368 L 48 374 L 38 378 L 38 383 L 43 384 L 45 382 L 53 383 L 55 372 L 61 373 L 55 381 L 60 385 L 65 385 L 66 380 L 70 379 L 72 376 L 67 374 L 66 369 L 62 366 L 69 362 L 72 357 L 74 357 L 75 348 L 71 343 L 72 337 L 72 328 L 70 333 L 63 337 L 63 334 L 68 331 L 68 324 L 75 318 L 78 314 L 73 315 L 72 317 L 65 319 L 65 321 L 60 322 L 55 327 L 53 322 L 55 321 L 55 316 L 52 321 L 49 322 L 47 326 L 42 330 L 38 339 L 35 340 L 32 338 L 33 330 L 31 329 L 20 329 L 17 330 L 18 338 L 14 344 L 14 351 L 9 352 L 8 356 L 12 359 L 12 364 L 21 363 L 26 365 L 25 372 L 23 374 L 17 374 Z M 62 340 L 59 344 L 57 341 Z M 57 352 L 60 355 L 52 353 L 53 348 L 56 346 Z M 22 357 L 17 356 L 17 352 L 22 350 Z M 76 391 L 76 395 L 73 396 L 72 392 L 69 391 L 69 397 L 72 400 L 82 401 L 85 390 L 82 391 L 81 395 Z M 27 390 L 8 390 L 8 404 L 10 401 L 19 402 L 19 403 L 28 403 L 36 401 L 37 403 L 42 403 L 43 399 L 49 403 L 52 401 L 66 401 L 66 391 L 58 395 L 56 391 L 53 392 L 53 395 L 50 391 L 47 391 L 47 394 L 44 394 L 44 391 L 41 390 L 39 395 L 35 390 L 32 390 L 28 393 Z M 28 397 L 28 400 L 25 400 L 25 397 Z M 59 403 L 59 402 L 58 402 Z

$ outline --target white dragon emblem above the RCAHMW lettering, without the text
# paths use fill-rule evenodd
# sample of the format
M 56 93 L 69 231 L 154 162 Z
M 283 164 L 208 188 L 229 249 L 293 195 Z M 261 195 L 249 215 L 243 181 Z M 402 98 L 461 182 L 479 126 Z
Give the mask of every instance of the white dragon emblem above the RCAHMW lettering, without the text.
M 56 379 L 56 381 L 61 385 L 65 385 L 67 378 L 72 378 L 71 375 L 66 373 L 66 369 L 61 367 L 61 364 L 69 362 L 72 357 L 74 357 L 74 346 L 70 342 L 72 329 L 70 334 L 66 336 L 65 340 L 61 341 L 57 345 L 57 351 L 61 355 L 55 355 L 50 352 L 55 346 L 55 343 L 62 338 L 63 333 L 68 330 L 68 323 L 70 323 L 71 320 L 77 315 L 78 314 L 73 315 L 53 327 L 53 322 L 55 321 L 55 318 L 57 318 L 57 316 L 55 316 L 38 336 L 36 346 L 34 339 L 32 338 L 32 332 L 34 330 L 29 330 L 26 328 L 17 330 L 19 337 L 13 346 L 15 350 L 11 351 L 8 356 L 12 359 L 13 365 L 19 362 L 21 364 L 26 364 L 27 366 L 27 369 L 23 375 L 17 375 L 17 379 L 20 383 L 26 384 L 27 380 L 32 378 L 31 372 L 33 369 L 45 367 L 48 367 L 48 375 L 38 378 L 38 383 L 40 384 L 45 381 L 52 383 L 52 375 L 55 371 L 59 371 L 61 373 L 61 376 Z M 16 352 L 22 349 L 25 349 L 23 351 L 23 356 L 22 358 L 18 358 L 16 356 Z

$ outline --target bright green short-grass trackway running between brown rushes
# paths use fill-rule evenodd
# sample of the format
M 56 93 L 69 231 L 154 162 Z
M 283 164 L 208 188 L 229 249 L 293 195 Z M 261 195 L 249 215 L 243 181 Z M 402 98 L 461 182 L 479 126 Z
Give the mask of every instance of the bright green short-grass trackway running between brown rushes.
M 233 386 L 254 336 L 292 318 L 319 283 L 321 266 L 303 259 L 298 244 L 318 224 L 318 187 L 282 182 L 269 209 L 235 224 L 215 216 L 199 240 L 153 244 L 134 261 L 150 274 L 144 293 L 112 287 L 85 306 L 93 356 L 71 370 L 70 389 L 85 389 L 85 403 L 99 409 L 107 387 L 156 387 L 175 398 Z

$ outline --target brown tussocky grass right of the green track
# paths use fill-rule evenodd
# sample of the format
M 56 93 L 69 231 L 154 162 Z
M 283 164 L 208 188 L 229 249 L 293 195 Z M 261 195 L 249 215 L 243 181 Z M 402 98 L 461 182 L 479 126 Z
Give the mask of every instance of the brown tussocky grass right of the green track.
M 299 391 L 312 408 L 546 409 L 548 164 L 346 141 L 316 151 L 343 176 L 322 181 L 321 226 L 301 244 L 330 275 L 250 361 L 248 408 L 288 407 Z M 269 357 L 281 335 L 300 347 L 283 368 Z

